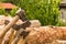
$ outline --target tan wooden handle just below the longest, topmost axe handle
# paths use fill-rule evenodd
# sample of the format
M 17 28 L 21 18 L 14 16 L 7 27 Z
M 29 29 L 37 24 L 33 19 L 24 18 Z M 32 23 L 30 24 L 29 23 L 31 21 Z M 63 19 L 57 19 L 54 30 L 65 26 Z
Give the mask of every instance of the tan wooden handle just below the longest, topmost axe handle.
M 7 33 L 6 33 L 6 35 L 4 35 L 4 37 L 3 37 L 3 41 L 2 41 L 2 44 L 10 44 L 10 37 L 11 37 L 11 34 L 14 32 L 14 30 L 13 29 L 10 29 Z M 12 37 L 11 37 L 12 38 Z

